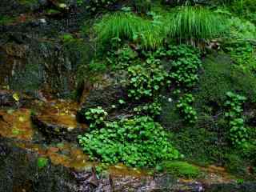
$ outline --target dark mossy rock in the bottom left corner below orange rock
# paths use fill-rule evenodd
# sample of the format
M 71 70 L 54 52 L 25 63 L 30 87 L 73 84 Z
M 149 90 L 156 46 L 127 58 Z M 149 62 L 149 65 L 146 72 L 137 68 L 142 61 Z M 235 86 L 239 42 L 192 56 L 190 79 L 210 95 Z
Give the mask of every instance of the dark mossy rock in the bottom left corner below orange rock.
M 74 175 L 64 166 L 38 169 L 38 154 L 22 150 L 14 142 L 0 137 L 7 155 L 0 154 L 0 191 L 78 192 Z

